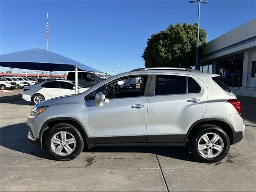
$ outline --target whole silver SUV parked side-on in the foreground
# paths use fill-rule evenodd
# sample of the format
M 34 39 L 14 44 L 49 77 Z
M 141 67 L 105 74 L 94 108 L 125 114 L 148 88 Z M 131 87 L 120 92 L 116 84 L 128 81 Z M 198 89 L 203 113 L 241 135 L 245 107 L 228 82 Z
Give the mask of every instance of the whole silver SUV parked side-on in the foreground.
M 117 89 L 136 78 L 136 88 Z M 81 94 L 46 100 L 28 116 L 28 139 L 56 160 L 84 146 L 188 146 L 200 162 L 222 160 L 242 140 L 241 106 L 219 75 L 185 68 L 118 74 Z

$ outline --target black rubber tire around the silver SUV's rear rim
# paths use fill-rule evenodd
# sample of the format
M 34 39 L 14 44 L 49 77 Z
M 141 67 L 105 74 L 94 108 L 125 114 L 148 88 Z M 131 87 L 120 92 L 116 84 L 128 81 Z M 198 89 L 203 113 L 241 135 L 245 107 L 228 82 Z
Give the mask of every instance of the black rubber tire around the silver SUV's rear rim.
M 220 136 L 220 138 L 222 138 L 222 140 L 223 140 L 222 151 L 216 157 L 212 157 L 212 158 L 205 157 L 198 150 L 198 142 L 200 142 L 199 139 L 206 133 L 218 134 L 218 136 Z M 226 157 L 226 155 L 228 154 L 228 151 L 229 151 L 229 148 L 230 148 L 230 140 L 228 138 L 228 135 L 226 134 L 226 132 L 222 128 L 220 128 L 218 126 L 215 126 L 215 125 L 201 125 L 196 130 L 196 132 L 193 133 L 190 136 L 190 138 L 188 139 L 188 147 L 189 147 L 189 150 L 190 150 L 191 154 L 199 162 L 216 163 L 216 162 L 219 162 L 222 159 L 224 159 Z

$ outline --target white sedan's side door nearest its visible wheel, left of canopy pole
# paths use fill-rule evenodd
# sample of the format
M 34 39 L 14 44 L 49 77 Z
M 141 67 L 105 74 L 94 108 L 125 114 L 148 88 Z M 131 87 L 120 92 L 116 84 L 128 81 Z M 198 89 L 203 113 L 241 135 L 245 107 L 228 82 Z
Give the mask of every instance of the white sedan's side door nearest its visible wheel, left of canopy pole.
M 38 91 L 45 99 L 51 99 L 60 96 L 60 89 L 57 81 L 45 82 L 42 84 L 42 89 Z

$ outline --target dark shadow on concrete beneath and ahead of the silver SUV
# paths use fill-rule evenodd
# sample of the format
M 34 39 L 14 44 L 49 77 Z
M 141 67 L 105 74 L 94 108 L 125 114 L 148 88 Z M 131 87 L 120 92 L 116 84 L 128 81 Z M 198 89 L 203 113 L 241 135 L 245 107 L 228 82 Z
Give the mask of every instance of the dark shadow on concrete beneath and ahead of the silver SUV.
M 30 144 L 27 138 L 28 128 L 26 123 L 13 124 L 0 128 L 0 146 L 17 152 L 30 154 L 39 158 L 53 160 L 45 150 Z M 152 153 L 168 158 L 196 162 L 187 148 L 180 146 L 100 146 L 84 149 L 83 152 L 122 152 L 122 153 Z

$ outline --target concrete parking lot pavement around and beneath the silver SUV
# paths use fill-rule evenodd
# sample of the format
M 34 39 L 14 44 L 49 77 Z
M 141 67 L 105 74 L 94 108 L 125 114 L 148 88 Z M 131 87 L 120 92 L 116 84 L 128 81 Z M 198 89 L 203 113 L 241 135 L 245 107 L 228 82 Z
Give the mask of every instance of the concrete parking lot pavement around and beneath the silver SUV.
M 255 191 L 256 124 L 215 164 L 195 162 L 183 147 L 96 147 L 54 161 L 27 140 L 32 103 L 22 90 L 0 93 L 1 191 Z

